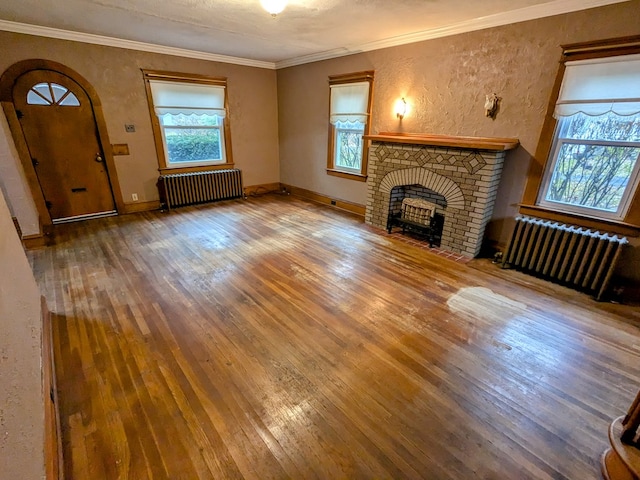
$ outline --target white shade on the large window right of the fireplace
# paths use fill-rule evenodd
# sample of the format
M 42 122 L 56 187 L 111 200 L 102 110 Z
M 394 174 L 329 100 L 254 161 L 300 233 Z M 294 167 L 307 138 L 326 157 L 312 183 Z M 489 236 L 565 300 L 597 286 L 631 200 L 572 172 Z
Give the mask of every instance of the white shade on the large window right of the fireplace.
M 554 117 L 640 113 L 640 55 L 567 62 Z

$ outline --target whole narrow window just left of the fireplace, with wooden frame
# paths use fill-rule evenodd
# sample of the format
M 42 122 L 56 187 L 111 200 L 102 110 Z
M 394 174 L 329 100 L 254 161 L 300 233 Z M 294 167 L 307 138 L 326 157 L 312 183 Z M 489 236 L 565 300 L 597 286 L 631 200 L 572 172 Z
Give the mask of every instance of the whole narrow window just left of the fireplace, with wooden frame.
M 327 173 L 366 180 L 364 135 L 369 134 L 373 72 L 329 77 Z

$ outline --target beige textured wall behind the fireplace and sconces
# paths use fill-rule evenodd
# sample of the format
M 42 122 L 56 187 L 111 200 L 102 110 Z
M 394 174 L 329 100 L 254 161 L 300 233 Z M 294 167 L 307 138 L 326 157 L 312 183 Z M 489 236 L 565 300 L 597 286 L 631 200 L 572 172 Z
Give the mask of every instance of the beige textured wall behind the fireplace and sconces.
M 640 34 L 640 1 L 543 18 L 278 71 L 280 178 L 283 183 L 364 204 L 364 184 L 328 176 L 327 117 L 333 74 L 375 70 L 371 133 L 405 131 L 517 137 L 505 162 L 489 226 L 505 244 L 517 214 L 558 69 L 560 45 Z M 485 94 L 502 97 L 496 120 Z M 405 97 L 410 112 L 393 114 Z M 637 249 L 636 249 L 637 250 Z M 637 257 L 638 255 L 636 255 Z M 628 275 L 640 278 L 640 264 Z

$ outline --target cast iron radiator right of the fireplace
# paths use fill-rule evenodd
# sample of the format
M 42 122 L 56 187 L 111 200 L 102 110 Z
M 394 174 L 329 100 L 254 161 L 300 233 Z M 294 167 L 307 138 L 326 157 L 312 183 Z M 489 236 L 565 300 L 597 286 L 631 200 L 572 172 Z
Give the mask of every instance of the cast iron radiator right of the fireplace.
M 625 237 L 522 216 L 516 218 L 502 267 L 510 266 L 601 300 L 627 243 Z

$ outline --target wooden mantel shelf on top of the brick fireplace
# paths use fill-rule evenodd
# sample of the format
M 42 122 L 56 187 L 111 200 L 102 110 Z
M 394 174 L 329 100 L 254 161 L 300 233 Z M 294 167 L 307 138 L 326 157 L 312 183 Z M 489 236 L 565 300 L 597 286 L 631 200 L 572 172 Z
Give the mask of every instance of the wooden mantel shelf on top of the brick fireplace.
M 412 145 L 434 145 L 437 147 L 469 148 L 472 150 L 513 150 L 520 145 L 517 138 L 458 137 L 453 135 L 431 135 L 426 133 L 380 132 L 365 135 L 365 140 L 374 142 L 405 143 Z

